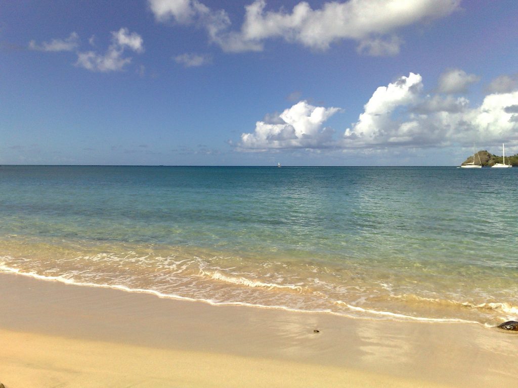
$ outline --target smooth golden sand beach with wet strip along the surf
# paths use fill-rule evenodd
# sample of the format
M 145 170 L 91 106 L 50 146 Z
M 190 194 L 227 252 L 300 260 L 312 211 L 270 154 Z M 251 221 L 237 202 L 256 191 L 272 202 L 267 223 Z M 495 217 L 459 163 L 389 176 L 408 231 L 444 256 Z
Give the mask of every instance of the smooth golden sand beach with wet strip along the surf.
M 0 296 L 6 388 L 79 387 L 89 374 L 113 387 L 487 387 L 512 386 L 518 369 L 518 336 L 476 324 L 213 306 L 6 273 Z

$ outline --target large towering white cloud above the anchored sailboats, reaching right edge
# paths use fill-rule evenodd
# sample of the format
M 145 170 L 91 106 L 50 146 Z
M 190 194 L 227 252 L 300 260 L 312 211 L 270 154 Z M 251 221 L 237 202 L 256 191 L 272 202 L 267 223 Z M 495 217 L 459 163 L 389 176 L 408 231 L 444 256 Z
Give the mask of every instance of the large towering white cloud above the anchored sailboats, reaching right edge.
M 413 73 L 378 88 L 344 133 L 342 147 L 433 147 L 470 144 L 473 139 L 490 145 L 518 139 L 512 121 L 518 92 L 491 94 L 481 106 L 469 108 L 465 97 L 423 96 L 422 89 L 421 76 Z

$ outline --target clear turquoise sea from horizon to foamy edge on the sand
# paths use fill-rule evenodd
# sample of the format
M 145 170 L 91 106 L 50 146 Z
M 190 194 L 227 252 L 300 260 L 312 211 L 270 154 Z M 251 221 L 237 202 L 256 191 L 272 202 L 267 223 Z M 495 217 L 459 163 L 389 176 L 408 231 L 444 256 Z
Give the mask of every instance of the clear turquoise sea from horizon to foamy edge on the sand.
M 518 318 L 518 169 L 0 167 L 0 268 L 214 304 Z

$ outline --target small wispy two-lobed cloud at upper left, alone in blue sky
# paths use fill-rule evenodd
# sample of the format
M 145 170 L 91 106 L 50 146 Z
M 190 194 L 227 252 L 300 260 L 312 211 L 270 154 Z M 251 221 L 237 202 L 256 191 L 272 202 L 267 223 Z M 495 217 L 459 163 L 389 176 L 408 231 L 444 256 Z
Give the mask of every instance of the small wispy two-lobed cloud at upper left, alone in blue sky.
M 137 33 L 130 33 L 127 28 L 121 28 L 111 33 L 111 44 L 105 54 L 79 52 L 76 65 L 91 71 L 119 71 L 132 61 L 131 57 L 124 56 L 126 49 L 142 53 L 143 39 Z

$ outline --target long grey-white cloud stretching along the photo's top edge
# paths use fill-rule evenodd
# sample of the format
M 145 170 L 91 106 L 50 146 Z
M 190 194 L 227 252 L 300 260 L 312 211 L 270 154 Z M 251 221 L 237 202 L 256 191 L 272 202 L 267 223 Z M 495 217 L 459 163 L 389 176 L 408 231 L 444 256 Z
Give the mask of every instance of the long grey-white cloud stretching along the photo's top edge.
M 266 39 L 281 38 L 311 49 L 326 50 L 341 39 L 358 42 L 358 52 L 395 55 L 402 40 L 395 32 L 427 19 L 448 16 L 460 0 L 350 0 L 324 3 L 312 9 L 307 2 L 291 12 L 266 10 L 265 0 L 245 7 L 240 29 L 231 30 L 225 10 L 211 10 L 198 0 L 148 0 L 155 19 L 178 24 L 196 24 L 206 29 L 211 42 L 224 51 L 260 51 Z

